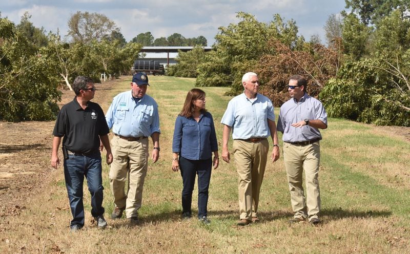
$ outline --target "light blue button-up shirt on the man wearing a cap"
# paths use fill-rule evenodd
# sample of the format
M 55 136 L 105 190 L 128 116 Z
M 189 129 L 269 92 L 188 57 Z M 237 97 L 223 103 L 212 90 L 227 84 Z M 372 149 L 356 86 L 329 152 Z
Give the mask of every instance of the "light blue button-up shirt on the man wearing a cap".
M 132 92 L 118 94 L 106 114 L 108 128 L 124 137 L 149 137 L 159 131 L 158 104 L 149 95 L 134 100 Z

